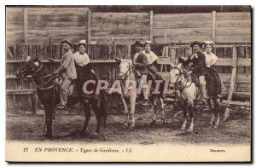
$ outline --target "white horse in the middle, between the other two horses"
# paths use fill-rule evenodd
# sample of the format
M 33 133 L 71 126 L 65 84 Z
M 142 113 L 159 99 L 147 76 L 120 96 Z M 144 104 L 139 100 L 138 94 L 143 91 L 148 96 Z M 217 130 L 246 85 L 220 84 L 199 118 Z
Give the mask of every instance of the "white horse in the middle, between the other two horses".
M 132 61 L 128 59 L 121 59 L 116 60 L 119 62 L 119 79 L 121 80 L 121 85 L 123 85 L 123 88 L 125 87 L 125 83 L 137 83 L 137 78 L 135 78 L 135 74 L 132 72 Z M 122 91 L 123 92 L 123 91 Z M 158 97 L 160 101 L 160 107 L 161 107 L 161 120 L 163 123 L 165 123 L 165 114 L 164 114 L 164 103 L 160 95 L 148 95 L 149 103 L 151 107 L 153 108 L 153 121 L 151 124 L 156 123 L 156 103 L 154 101 L 154 97 Z M 136 105 L 136 99 L 137 99 L 137 86 L 131 86 L 131 89 L 128 89 L 126 93 L 121 94 L 121 99 L 125 106 L 125 127 L 128 127 L 130 129 L 134 128 L 135 125 L 135 118 L 134 118 L 134 112 L 135 112 L 135 105 Z M 127 103 L 131 103 L 131 110 L 129 111 Z M 131 117 L 131 121 L 130 118 Z

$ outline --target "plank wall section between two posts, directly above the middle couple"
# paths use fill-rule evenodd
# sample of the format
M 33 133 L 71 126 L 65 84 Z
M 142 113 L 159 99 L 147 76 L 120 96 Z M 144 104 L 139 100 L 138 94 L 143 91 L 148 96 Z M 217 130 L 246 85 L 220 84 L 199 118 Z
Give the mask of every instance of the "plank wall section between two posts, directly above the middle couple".
M 128 44 L 149 38 L 148 13 L 91 13 L 91 40 Z

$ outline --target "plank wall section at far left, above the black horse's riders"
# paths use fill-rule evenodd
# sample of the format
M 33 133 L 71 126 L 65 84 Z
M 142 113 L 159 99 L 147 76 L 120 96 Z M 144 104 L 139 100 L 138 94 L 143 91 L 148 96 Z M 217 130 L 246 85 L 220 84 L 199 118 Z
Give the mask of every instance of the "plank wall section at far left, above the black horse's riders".
M 26 24 L 24 24 L 26 23 Z M 88 8 L 7 8 L 7 43 L 73 43 L 88 37 Z

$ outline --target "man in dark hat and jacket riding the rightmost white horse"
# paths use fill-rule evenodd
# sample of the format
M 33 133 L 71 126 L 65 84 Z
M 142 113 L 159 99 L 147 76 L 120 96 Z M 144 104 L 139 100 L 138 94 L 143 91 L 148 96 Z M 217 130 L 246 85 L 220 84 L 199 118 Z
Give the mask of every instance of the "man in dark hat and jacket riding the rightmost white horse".
M 207 92 L 206 92 L 206 57 L 201 52 L 202 44 L 198 41 L 195 41 L 190 44 L 190 47 L 193 49 L 193 54 L 189 55 L 188 60 L 183 60 L 179 57 L 178 61 L 183 63 L 184 66 L 191 66 L 192 74 L 195 74 L 199 78 L 200 89 L 202 94 L 202 102 L 207 103 Z

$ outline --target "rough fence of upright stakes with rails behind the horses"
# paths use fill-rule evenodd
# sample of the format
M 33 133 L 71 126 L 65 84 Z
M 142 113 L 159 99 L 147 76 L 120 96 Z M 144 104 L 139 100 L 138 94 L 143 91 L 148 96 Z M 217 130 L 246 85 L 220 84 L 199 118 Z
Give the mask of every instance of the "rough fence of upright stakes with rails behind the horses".
M 134 51 L 132 47 L 117 44 L 113 52 L 112 45 L 90 44 L 88 53 L 96 75 L 113 82 L 117 79 L 117 65 L 114 63 L 115 57 L 130 58 Z M 154 53 L 159 56 L 158 70 L 160 75 L 166 80 L 170 78 L 170 62 L 176 63 L 177 56 L 188 56 L 191 49 L 188 45 L 164 45 L 154 44 Z M 35 108 L 38 105 L 35 96 L 35 88 L 32 82 L 21 83 L 20 79 L 15 78 L 15 71 L 26 62 L 26 56 L 37 56 L 45 66 L 55 70 L 58 65 L 51 65 L 50 56 L 61 59 L 62 49 L 60 45 L 35 45 L 35 44 L 15 44 L 9 47 L 10 55 L 6 60 L 6 89 L 7 107 L 29 107 Z M 74 45 L 74 51 L 77 45 Z M 51 51 L 51 53 L 50 53 Z M 214 52 L 218 55 L 217 70 L 226 86 L 225 96 L 251 96 L 251 46 L 250 45 L 216 45 Z

